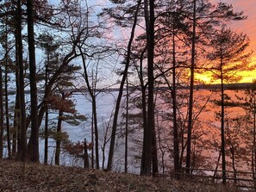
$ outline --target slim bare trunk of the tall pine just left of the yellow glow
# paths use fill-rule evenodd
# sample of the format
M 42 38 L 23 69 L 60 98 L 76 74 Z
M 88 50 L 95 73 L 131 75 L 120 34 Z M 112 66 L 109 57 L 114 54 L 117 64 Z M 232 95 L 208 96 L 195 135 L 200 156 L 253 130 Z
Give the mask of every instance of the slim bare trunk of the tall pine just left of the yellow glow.
M 196 0 L 194 0 L 193 10 L 193 34 L 192 34 L 192 51 L 191 51 L 191 66 L 190 66 L 190 103 L 189 103 L 189 121 L 188 121 L 188 139 L 187 139 L 187 157 L 186 157 L 186 173 L 190 174 L 191 165 L 191 134 L 193 126 L 193 97 L 194 97 L 194 72 L 195 72 L 195 57 L 196 57 Z

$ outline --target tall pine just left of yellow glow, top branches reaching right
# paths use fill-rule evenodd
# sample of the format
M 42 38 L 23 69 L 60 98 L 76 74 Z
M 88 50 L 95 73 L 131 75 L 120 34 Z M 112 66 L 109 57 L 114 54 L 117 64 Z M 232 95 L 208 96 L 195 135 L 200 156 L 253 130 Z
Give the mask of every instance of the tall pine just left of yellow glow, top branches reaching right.
M 186 151 L 186 172 L 190 173 L 190 152 L 191 152 L 191 134 L 193 127 L 193 95 L 194 95 L 194 81 L 195 81 L 195 72 L 196 69 L 204 67 L 199 65 L 199 57 L 197 56 L 200 50 L 204 50 L 203 46 L 207 45 L 207 41 L 210 39 L 211 33 L 210 30 L 213 30 L 216 26 L 220 25 L 223 22 L 230 20 L 242 20 L 245 19 L 243 12 L 234 13 L 231 5 L 226 3 L 218 3 L 217 6 L 213 6 L 209 1 L 202 1 L 197 3 L 196 0 L 193 0 L 191 3 L 193 12 L 192 21 L 192 32 L 188 35 L 190 36 L 189 40 L 191 43 L 191 59 L 190 59 L 190 101 L 188 108 L 188 122 L 187 122 L 187 151 Z M 200 23 L 200 24 L 199 24 Z M 200 38 L 198 38 L 200 36 Z M 196 49 L 196 46 L 198 48 Z M 202 47 L 200 47 L 202 46 Z M 197 50 L 197 52 L 196 52 Z M 196 55 L 197 53 L 197 55 Z M 203 51 L 202 51 L 203 53 Z M 197 62 L 197 67 L 196 67 Z

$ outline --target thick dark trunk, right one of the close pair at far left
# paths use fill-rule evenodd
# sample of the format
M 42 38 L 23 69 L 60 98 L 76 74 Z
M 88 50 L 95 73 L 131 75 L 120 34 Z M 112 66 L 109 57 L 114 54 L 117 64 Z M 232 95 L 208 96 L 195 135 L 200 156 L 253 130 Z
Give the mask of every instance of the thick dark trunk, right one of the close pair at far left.
M 28 53 L 29 53 L 29 83 L 31 100 L 31 136 L 28 146 L 28 153 L 32 162 L 39 162 L 39 127 L 38 127 L 38 106 L 36 87 L 36 65 L 34 50 L 34 1 L 28 0 Z M 31 147 L 30 147 L 31 146 Z

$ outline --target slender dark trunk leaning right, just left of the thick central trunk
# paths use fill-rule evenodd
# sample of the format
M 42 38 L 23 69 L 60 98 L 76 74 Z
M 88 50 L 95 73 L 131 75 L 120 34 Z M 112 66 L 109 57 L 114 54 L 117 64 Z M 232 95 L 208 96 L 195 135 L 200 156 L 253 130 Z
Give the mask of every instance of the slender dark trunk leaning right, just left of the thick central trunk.
M 125 62 L 125 69 L 123 71 L 122 81 L 120 84 L 119 93 L 118 93 L 117 100 L 116 100 L 116 110 L 115 110 L 115 114 L 114 114 L 113 127 L 112 127 L 111 139 L 110 139 L 109 159 L 108 159 L 107 170 L 111 170 L 112 164 L 113 164 L 114 146 L 115 146 L 115 142 L 116 142 L 117 119 L 118 119 L 119 108 L 120 108 L 120 103 L 121 103 L 121 99 L 122 99 L 123 86 L 125 84 L 125 80 L 128 75 L 128 66 L 130 64 L 131 48 L 132 48 L 132 42 L 134 40 L 134 32 L 135 32 L 136 23 L 137 23 L 137 16 L 138 16 L 139 8 L 140 8 L 140 2 L 141 2 L 141 0 L 138 1 L 138 6 L 137 6 L 136 12 L 134 14 L 134 24 L 133 24 L 131 36 L 130 36 L 130 39 L 128 42 L 128 53 L 127 53 L 127 58 L 126 58 L 126 62 Z

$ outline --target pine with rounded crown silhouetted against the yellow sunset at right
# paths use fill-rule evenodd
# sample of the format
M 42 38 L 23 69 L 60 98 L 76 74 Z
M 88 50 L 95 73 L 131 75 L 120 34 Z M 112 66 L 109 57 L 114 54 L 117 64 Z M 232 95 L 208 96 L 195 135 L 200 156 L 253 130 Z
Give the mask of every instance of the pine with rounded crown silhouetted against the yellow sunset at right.
M 221 137 L 222 137 L 222 183 L 226 184 L 226 142 L 225 142 L 225 95 L 224 84 L 238 82 L 238 71 L 249 69 L 249 58 L 252 53 L 247 53 L 249 39 L 246 34 L 235 34 L 230 29 L 222 28 L 211 40 L 212 72 L 215 79 L 221 81 Z

